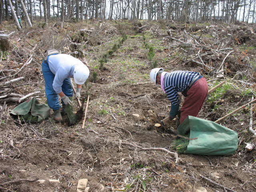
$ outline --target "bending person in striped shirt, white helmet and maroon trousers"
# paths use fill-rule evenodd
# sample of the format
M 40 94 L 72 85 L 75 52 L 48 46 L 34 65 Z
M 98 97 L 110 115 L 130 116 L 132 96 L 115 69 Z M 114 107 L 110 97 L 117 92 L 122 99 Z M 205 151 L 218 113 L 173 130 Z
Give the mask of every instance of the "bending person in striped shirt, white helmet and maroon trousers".
M 208 93 L 206 79 L 198 72 L 192 71 L 173 71 L 164 72 L 163 68 L 154 68 L 150 72 L 150 80 L 159 84 L 171 102 L 169 113 L 170 120 L 174 119 L 179 113 L 180 99 L 178 92 L 185 96 L 184 103 L 180 109 L 180 123 L 187 116 L 198 116 L 200 109 Z

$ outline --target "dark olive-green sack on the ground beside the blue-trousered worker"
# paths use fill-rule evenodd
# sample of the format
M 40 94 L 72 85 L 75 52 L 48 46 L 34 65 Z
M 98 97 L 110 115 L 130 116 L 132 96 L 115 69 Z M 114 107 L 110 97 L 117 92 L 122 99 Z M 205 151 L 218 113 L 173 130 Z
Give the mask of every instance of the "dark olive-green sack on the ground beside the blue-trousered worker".
M 16 106 L 11 114 L 14 116 L 25 116 L 28 117 L 27 114 L 31 114 L 34 117 L 38 117 L 36 122 L 40 122 L 50 115 L 50 108 L 46 104 L 40 104 L 40 102 L 36 98 L 32 98 L 26 100 L 25 102 Z

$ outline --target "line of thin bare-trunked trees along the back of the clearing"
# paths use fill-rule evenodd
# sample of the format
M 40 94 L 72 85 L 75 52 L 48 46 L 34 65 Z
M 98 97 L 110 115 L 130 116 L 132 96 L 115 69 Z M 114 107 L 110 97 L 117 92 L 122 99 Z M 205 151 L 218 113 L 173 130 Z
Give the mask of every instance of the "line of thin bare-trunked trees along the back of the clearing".
M 0 0 L 0 23 L 21 16 L 25 24 L 44 17 L 74 19 L 148 19 L 184 22 L 255 22 L 256 0 Z

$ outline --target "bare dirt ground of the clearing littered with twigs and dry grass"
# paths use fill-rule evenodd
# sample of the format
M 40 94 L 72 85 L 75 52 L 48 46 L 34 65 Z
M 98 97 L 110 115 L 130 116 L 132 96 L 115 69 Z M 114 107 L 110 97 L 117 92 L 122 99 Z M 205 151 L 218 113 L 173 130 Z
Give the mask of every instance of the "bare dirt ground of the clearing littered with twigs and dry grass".
M 76 43 L 86 42 L 85 45 L 78 45 L 80 50 L 85 51 L 91 72 L 86 124 L 82 129 L 82 122 L 75 126 L 68 126 L 65 122 L 55 123 L 52 116 L 38 124 L 17 124 L 9 115 L 17 103 L 7 102 L 7 110 L 0 114 L 0 184 L 23 178 L 46 181 L 7 183 L 0 185 L 0 191 L 74 192 L 81 178 L 88 178 L 91 192 L 99 191 L 99 184 L 105 186 L 105 191 L 200 192 L 200 186 L 206 188 L 207 192 L 226 191 L 202 179 L 200 174 L 237 192 L 256 191 L 256 152 L 244 150 L 246 143 L 253 140 L 248 131 L 250 106 L 220 122 L 238 132 L 238 150 L 234 155 L 179 154 L 182 161 L 175 164 L 175 158 L 165 152 L 143 151 L 122 144 L 136 143 L 143 147 L 162 147 L 172 151 L 170 145 L 175 139 L 174 135 L 160 132 L 154 127 L 155 123 L 168 115 L 170 102 L 160 87 L 154 86 L 149 80 L 152 63 L 148 62 L 148 49 L 144 46 L 142 35 L 149 45 L 154 46 L 154 60 L 165 71 L 192 70 L 200 72 L 207 80 L 216 79 L 216 74 L 188 62 L 190 54 L 177 46 L 175 40 L 166 38 L 166 31 L 171 30 L 173 38 L 183 41 L 181 37 L 186 30 L 200 36 L 205 46 L 217 42 L 214 49 L 221 46 L 232 48 L 234 52 L 226 59 L 224 74 L 233 77 L 236 72 L 243 71 L 240 80 L 254 83 L 255 34 L 246 36 L 247 25 L 218 24 L 218 27 L 212 27 L 219 32 L 216 34 L 220 40 L 218 42 L 213 35 L 213 32 L 217 32 L 210 30 L 208 23 L 186 26 L 168 21 L 80 22 L 68 23 L 64 29 L 54 23 L 52 21 L 48 28 L 44 28 L 38 22 L 34 28 L 16 32 L 11 40 L 12 50 L 4 52 L 0 69 L 17 70 L 33 54 L 31 64 L 17 76 L 25 76 L 25 79 L 11 84 L 10 88 L 14 93 L 23 95 L 39 90 L 41 94 L 37 96 L 40 102 L 45 103 L 44 80 L 40 71 L 44 49 L 54 47 L 68 53 L 74 50 L 66 44 L 66 38 Z M 143 25 L 146 28 L 141 33 L 134 28 Z M 78 38 L 75 41 L 80 28 L 93 32 L 86 39 L 80 41 Z M 11 27 L 6 29 L 13 31 Z M 242 32 L 243 35 L 240 34 Z M 128 35 L 127 40 L 108 58 L 104 70 L 100 70 L 98 60 L 118 42 L 121 33 Z M 19 38 L 21 40 L 18 41 Z M 221 40 L 223 38 L 226 39 Z M 186 48 L 184 50 L 187 51 Z M 225 56 L 216 52 L 216 56 L 207 56 L 203 61 L 216 67 L 220 66 Z M 96 80 L 92 78 L 93 72 L 97 74 Z M 209 88 L 221 81 L 210 81 Z M 85 90 L 84 85 L 82 96 L 86 96 Z M 254 95 L 252 87 L 228 81 L 208 96 L 199 117 L 217 120 L 249 102 Z M 133 114 L 139 114 L 139 117 Z M 59 182 L 49 182 L 49 179 Z

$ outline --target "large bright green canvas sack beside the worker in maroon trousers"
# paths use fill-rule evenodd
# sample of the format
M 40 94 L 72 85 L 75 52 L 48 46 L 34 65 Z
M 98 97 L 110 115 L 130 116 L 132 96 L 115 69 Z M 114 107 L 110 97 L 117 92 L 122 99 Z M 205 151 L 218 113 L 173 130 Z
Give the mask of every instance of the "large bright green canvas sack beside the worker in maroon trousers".
M 185 153 L 198 155 L 230 155 L 237 149 L 238 135 L 235 131 L 212 121 L 188 116 L 180 126 L 178 134 L 190 132 Z

